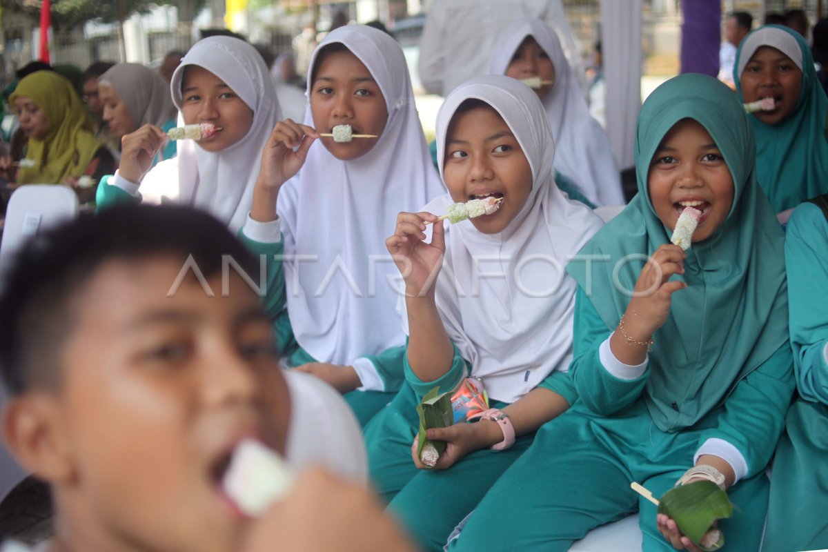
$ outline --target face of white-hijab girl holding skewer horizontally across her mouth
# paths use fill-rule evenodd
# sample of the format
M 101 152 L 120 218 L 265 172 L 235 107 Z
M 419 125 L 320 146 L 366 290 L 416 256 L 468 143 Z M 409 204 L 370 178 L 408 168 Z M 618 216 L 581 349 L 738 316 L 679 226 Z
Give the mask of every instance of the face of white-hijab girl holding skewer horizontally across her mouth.
M 325 148 L 342 161 L 368 153 L 388 120 L 388 108 L 377 81 L 349 51 L 330 52 L 322 59 L 310 89 L 310 113 L 317 132 L 330 133 L 338 125 L 350 125 L 354 134 L 377 137 L 354 138 L 351 142 L 321 138 Z

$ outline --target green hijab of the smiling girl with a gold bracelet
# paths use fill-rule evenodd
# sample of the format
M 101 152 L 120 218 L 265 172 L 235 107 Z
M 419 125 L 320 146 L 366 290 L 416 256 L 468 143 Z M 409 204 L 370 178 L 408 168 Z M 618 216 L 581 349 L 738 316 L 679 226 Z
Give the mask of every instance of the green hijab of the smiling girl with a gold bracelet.
M 604 324 L 614 329 L 627 309 L 642 262 L 671 232 L 649 199 L 647 173 L 657 146 L 676 124 L 695 119 L 719 146 L 734 180 L 734 204 L 720 228 L 687 250 L 687 288 L 672 295 L 667 322 L 652 336 L 652 372 L 644 399 L 656 425 L 694 425 L 787 340 L 787 293 L 782 228 L 753 174 L 753 132 L 733 92 L 702 74 L 682 74 L 659 86 L 638 116 L 635 160 L 638 195 L 581 250 L 608 256 L 566 270 Z M 593 257 L 599 258 L 599 257 Z M 616 268 L 617 266 L 617 268 Z M 588 287 L 589 285 L 589 287 Z M 675 403 L 675 406 L 673 406 Z

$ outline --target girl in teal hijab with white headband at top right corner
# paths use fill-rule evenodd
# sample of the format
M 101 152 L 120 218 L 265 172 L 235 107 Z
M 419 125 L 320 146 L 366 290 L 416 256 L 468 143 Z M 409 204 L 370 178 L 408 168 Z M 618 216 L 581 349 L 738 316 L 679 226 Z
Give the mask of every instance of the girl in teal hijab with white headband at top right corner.
M 773 111 L 749 116 L 756 134 L 756 177 L 775 212 L 828 192 L 828 99 L 806 41 L 785 26 L 745 36 L 734 64 L 739 99 L 773 98 Z

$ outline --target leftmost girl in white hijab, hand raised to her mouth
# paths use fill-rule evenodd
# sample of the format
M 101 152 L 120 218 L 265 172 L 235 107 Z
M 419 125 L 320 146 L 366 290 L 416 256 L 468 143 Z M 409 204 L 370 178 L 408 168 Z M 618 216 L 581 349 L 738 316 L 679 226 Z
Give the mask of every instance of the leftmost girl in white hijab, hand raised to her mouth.
M 248 43 L 211 36 L 190 48 L 170 88 L 185 124 L 212 122 L 219 132 L 179 141 L 178 156 L 152 170 L 166 133 L 148 122 L 123 137 L 118 171 L 98 187 L 99 207 L 172 201 L 205 210 L 238 232 L 248 221 L 262 148 L 282 117 L 267 66 Z

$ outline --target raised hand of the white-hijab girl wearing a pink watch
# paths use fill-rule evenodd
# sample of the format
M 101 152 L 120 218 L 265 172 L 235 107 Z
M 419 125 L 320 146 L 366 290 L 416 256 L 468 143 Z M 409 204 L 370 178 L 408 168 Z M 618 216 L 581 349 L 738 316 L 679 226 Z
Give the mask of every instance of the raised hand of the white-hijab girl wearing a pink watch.
M 434 294 L 434 281 L 440 272 L 445 253 L 445 230 L 442 221 L 431 213 L 400 213 L 394 235 L 385 240 L 388 252 L 406 283 L 408 297 Z M 426 243 L 426 223 L 434 223 L 431 243 Z

